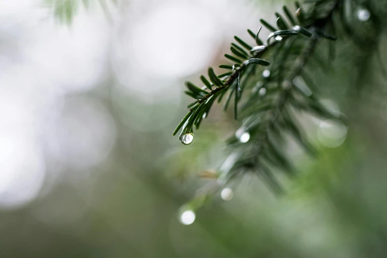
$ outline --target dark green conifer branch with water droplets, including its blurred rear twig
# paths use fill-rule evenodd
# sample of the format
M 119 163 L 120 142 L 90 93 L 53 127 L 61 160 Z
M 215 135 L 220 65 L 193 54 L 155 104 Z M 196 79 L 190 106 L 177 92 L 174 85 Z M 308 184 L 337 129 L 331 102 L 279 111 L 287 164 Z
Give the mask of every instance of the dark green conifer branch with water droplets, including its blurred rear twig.
M 199 128 L 216 99 L 221 102 L 227 95 L 224 105 L 224 109 L 227 109 L 234 95 L 234 117 L 243 118 L 242 127 L 236 131 L 235 136 L 227 140 L 233 159 L 232 162 L 227 161 L 226 167 L 220 168 L 220 181 L 226 183 L 241 171 L 260 172 L 273 190 L 280 192 L 279 183 L 269 168 L 277 167 L 289 175 L 294 173 L 289 158 L 280 151 L 284 146 L 286 132 L 290 132 L 309 153 L 315 154 L 315 150 L 306 141 L 293 110 L 306 110 L 337 119 L 314 96 L 315 86 L 303 68 L 310 58 L 316 56 L 314 50 L 321 39 L 336 40 L 326 30 L 333 24 L 333 14 L 341 12 L 341 3 L 342 0 L 313 0 L 312 6 L 305 11 L 296 2 L 295 16 L 284 6 L 284 15 L 288 20 L 276 13 L 278 29 L 265 20 L 260 20 L 271 31 L 265 45 L 259 39 L 261 28 L 257 34 L 248 30 L 257 46 L 250 46 L 234 37 L 237 43 L 232 43 L 231 52 L 235 56 L 225 54 L 234 64 L 219 66 L 231 70 L 230 73 L 216 76 L 214 69 L 210 67 L 208 74 L 211 83 L 205 83 L 204 87 L 186 83 L 188 91 L 185 92 L 195 102 L 189 105 L 188 114 L 173 132 L 175 135 L 182 129 L 182 143 L 192 142 L 193 127 Z M 292 28 L 289 28 L 289 24 Z M 252 82 L 257 78 L 255 74 L 262 71 L 262 67 L 267 67 L 262 72 L 262 80 Z M 224 79 L 220 79 L 223 76 Z M 201 78 L 203 81 L 204 76 Z M 299 85 L 298 80 L 303 80 L 306 88 Z M 251 85 L 253 87 L 249 88 Z M 242 99 L 242 94 L 249 89 L 250 94 Z M 241 101 L 244 103 L 239 107 Z

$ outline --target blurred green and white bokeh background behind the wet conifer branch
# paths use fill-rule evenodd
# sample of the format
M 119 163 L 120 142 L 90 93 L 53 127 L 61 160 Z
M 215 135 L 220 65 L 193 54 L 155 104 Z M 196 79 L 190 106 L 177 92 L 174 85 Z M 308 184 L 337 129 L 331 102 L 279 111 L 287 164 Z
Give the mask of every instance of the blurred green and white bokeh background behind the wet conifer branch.
M 53 2 L 0 0 L 1 258 L 387 256 L 385 78 L 371 68 L 353 93 L 350 42 L 335 76 L 315 72 L 349 126 L 301 116 L 320 155 L 289 144 L 287 194 L 246 174 L 184 213 L 239 122 L 216 107 L 183 146 L 183 82 L 286 1 Z

